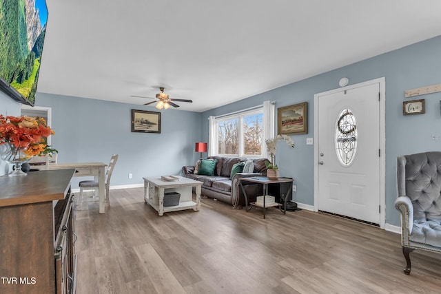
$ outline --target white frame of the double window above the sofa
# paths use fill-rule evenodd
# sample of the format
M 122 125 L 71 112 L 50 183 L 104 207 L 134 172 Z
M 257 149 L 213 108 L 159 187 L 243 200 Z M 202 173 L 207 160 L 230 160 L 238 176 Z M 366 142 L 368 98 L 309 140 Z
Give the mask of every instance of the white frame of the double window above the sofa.
M 264 116 L 265 114 L 263 113 L 263 107 L 259 107 L 257 109 L 253 109 L 253 110 L 248 110 L 248 111 L 243 111 L 243 112 L 239 112 L 237 114 L 232 114 L 229 116 L 222 116 L 220 118 L 215 118 L 215 129 L 216 129 L 216 140 L 215 140 L 215 144 L 216 144 L 216 156 L 222 156 L 222 157 L 246 157 L 246 158 L 262 158 L 262 157 L 266 157 L 267 155 L 267 151 L 266 151 L 266 146 L 265 146 L 265 124 L 264 124 L 264 120 L 262 120 L 262 142 L 260 145 L 260 154 L 256 154 L 256 155 L 247 155 L 244 154 L 244 143 L 243 143 L 243 118 L 245 116 L 253 116 L 255 114 L 262 114 L 262 116 Z M 238 154 L 219 154 L 218 153 L 218 132 L 219 132 L 219 123 L 223 122 L 225 120 L 232 120 L 234 118 L 238 118 L 238 137 L 239 137 L 239 142 L 238 142 Z

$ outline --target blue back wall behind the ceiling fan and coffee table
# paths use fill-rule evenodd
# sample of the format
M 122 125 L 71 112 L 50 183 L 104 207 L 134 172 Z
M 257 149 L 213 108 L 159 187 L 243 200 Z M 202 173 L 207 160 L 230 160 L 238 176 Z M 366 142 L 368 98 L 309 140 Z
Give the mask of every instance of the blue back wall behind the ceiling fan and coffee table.
M 201 139 L 201 114 L 167 109 L 161 134 L 132 133 L 132 109 L 154 107 L 37 93 L 36 105 L 52 107 L 58 162 L 105 162 L 119 154 L 112 186 L 143 183 L 144 176 L 176 175 L 196 161 L 194 143 Z M 133 174 L 129 179 L 128 174 Z M 83 180 L 84 178 L 78 178 Z M 77 178 L 72 187 L 77 187 Z

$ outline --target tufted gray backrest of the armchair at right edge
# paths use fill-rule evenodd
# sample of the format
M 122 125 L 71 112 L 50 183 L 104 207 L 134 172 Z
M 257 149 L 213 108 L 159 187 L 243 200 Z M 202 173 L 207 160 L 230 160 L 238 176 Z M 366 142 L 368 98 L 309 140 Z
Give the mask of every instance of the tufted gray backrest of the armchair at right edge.
M 398 196 L 413 205 L 413 219 L 441 219 L 441 152 L 398 156 Z

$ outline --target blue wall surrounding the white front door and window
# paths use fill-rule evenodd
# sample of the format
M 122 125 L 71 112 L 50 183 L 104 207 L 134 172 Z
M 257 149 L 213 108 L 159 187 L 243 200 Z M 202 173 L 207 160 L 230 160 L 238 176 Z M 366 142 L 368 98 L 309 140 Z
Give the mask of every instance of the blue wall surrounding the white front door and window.
M 438 36 L 204 112 L 202 140 L 208 140 L 208 116 L 234 112 L 267 100 L 276 101 L 276 107 L 307 101 L 308 134 L 291 137 L 296 142 L 295 149 L 278 144 L 276 162 L 281 174 L 295 179 L 294 199 L 314 205 L 314 146 L 306 145 L 306 138 L 314 137 L 314 94 L 338 88 L 342 77 L 349 78 L 349 85 L 385 77 L 386 223 L 399 226 L 400 216 L 393 207 L 397 193 L 397 156 L 441 150 L 441 141 L 431 139 L 432 134 L 441 135 L 441 93 L 418 96 L 418 99 L 426 99 L 426 114 L 403 116 L 402 102 L 409 100 L 404 99 L 404 91 L 441 83 L 440 68 L 441 36 Z

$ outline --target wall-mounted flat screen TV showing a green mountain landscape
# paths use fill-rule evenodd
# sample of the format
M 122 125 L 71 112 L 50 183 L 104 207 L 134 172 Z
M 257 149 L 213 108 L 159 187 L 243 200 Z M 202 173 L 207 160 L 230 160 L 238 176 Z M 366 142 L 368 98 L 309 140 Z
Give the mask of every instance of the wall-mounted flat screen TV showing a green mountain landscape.
M 0 0 L 0 90 L 34 105 L 48 20 L 45 0 Z

